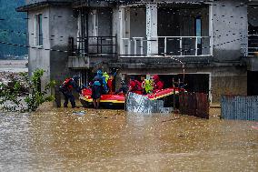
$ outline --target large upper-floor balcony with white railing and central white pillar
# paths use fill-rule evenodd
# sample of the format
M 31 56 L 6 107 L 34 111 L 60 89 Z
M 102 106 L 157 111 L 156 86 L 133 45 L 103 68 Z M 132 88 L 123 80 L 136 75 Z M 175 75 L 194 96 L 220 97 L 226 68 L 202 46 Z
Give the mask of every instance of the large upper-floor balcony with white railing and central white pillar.
M 209 5 L 128 5 L 120 8 L 120 57 L 213 56 Z

